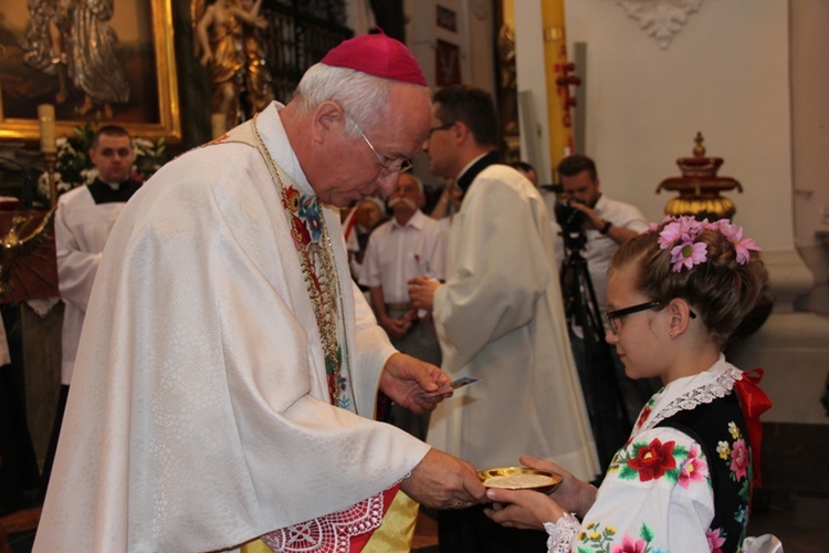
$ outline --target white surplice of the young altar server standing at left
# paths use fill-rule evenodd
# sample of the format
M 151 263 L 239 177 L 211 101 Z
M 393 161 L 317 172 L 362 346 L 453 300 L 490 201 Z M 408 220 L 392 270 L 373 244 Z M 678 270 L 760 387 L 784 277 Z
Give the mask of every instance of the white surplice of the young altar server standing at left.
M 57 200 L 54 219 L 57 284 L 63 312 L 61 383 L 70 385 L 86 305 L 106 239 L 126 202 L 95 204 L 90 187 L 70 190 Z

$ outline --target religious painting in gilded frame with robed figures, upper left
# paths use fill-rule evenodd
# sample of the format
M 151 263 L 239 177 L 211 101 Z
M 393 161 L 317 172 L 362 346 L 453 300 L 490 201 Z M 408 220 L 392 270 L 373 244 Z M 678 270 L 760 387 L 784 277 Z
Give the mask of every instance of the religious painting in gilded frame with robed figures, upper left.
M 35 140 L 87 122 L 181 138 L 171 0 L 7 0 L 0 8 L 0 139 Z

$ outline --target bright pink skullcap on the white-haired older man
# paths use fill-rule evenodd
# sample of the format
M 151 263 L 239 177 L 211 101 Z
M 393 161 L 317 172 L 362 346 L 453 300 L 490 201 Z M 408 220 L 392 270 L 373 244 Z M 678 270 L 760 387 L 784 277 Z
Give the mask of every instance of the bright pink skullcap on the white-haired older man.
M 406 45 L 380 31 L 361 34 L 333 48 L 321 63 L 382 79 L 426 86 L 426 77 Z

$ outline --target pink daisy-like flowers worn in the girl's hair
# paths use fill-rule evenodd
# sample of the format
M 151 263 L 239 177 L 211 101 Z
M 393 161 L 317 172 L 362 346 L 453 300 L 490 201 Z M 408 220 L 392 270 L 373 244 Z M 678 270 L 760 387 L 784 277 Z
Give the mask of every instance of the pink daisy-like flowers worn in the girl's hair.
M 662 227 L 664 225 L 664 227 Z M 743 238 L 743 228 L 737 227 L 728 219 L 709 222 L 707 219 L 697 221 L 691 216 L 665 217 L 662 222 L 650 225 L 649 232 L 655 232 L 659 228 L 659 248 L 667 250 L 671 248 L 671 263 L 673 272 L 680 272 L 683 268 L 691 269 L 707 259 L 709 247 L 703 241 L 697 241 L 697 236 L 704 230 L 716 230 L 734 244 L 737 252 L 737 263 L 746 264 L 749 251 L 760 251 L 757 242 L 751 238 Z

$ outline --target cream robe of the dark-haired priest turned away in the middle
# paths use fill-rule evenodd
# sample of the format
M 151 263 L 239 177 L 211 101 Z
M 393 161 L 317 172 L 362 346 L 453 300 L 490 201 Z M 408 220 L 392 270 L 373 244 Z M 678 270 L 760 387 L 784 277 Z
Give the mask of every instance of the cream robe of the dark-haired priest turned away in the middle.
M 433 314 L 443 371 L 480 382 L 438 406 L 427 441 L 479 469 L 534 455 L 590 480 L 597 458 L 549 229 L 538 191 L 510 167 L 486 167 L 464 195 Z

